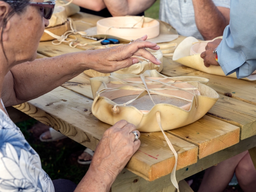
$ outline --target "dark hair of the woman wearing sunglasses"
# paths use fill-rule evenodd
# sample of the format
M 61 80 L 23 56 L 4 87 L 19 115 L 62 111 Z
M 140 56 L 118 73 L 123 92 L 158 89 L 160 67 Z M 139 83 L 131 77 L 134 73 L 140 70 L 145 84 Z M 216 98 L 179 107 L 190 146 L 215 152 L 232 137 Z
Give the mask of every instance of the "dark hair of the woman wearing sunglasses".
M 8 20 L 15 13 L 21 14 L 26 9 L 26 7 L 28 6 L 30 0 L 1 0 L 1 1 L 4 1 L 4 2 L 10 4 L 10 6 L 12 7 L 12 10 L 4 17 L 3 24 L 1 26 L 1 29 L 2 29 L 2 32 L 1 32 L 1 45 L 2 45 L 3 52 L 4 52 L 4 57 L 8 61 L 8 59 L 6 57 L 6 54 L 5 54 L 5 51 L 4 51 L 4 45 L 3 45 L 3 40 L 2 40 L 3 39 L 4 28 L 6 27 L 6 24 L 7 24 Z

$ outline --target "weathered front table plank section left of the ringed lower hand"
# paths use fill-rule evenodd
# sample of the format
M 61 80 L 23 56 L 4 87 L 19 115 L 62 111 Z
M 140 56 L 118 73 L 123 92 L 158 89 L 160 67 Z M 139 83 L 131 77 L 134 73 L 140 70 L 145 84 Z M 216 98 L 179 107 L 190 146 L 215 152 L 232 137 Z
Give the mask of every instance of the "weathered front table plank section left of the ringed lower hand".
M 76 142 L 95 149 L 104 131 L 110 126 L 92 115 L 91 106 L 92 100 L 58 87 L 14 107 Z

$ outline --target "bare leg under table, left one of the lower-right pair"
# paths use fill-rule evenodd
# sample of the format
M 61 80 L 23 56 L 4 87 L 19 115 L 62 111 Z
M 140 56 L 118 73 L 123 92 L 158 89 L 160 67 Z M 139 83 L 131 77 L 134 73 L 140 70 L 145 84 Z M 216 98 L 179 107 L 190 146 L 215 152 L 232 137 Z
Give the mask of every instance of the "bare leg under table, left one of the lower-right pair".
M 223 192 L 232 179 L 237 164 L 247 153 L 245 151 L 206 169 L 198 192 Z

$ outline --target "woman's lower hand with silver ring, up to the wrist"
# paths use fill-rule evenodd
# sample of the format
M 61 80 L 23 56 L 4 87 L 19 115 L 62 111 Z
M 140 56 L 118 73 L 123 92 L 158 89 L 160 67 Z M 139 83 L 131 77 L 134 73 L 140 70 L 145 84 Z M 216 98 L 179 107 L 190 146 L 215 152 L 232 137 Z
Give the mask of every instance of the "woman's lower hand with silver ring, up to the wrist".
M 125 120 L 106 130 L 95 150 L 90 168 L 108 174 L 114 181 L 140 147 L 140 140 L 134 141 L 132 131 L 135 130 L 135 125 Z M 140 132 L 136 132 L 140 137 Z

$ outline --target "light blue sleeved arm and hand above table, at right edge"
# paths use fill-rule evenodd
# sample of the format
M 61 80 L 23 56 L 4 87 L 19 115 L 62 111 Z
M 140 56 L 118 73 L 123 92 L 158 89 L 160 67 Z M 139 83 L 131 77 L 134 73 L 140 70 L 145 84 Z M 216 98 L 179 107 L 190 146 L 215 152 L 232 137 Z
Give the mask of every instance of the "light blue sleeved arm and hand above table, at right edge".
M 230 23 L 225 28 L 223 39 L 206 46 L 201 54 L 206 67 L 217 65 L 225 75 L 236 72 L 238 79 L 250 76 L 256 70 L 256 1 L 232 0 Z M 216 49 L 218 62 L 215 60 Z

